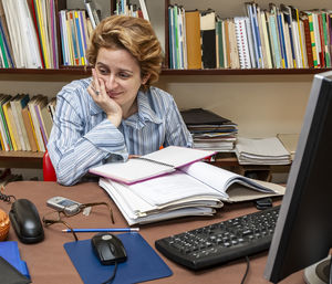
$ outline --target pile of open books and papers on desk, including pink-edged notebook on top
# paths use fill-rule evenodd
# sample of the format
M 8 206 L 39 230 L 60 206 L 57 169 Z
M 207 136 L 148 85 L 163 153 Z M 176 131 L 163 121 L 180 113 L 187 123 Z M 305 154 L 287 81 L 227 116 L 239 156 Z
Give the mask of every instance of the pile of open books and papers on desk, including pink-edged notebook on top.
M 169 155 L 170 152 L 176 155 Z M 224 201 L 236 202 L 283 194 L 284 188 L 274 183 L 249 179 L 204 161 L 184 162 L 190 156 L 194 161 L 199 156 L 208 156 L 207 152 L 211 154 L 173 146 L 145 155 L 143 159 L 129 159 L 128 164 L 100 166 L 91 172 L 103 177 L 100 186 L 114 200 L 129 225 L 186 215 L 212 215 L 216 209 L 222 207 Z M 162 176 L 156 172 L 152 176 L 149 172 L 147 178 L 143 171 L 149 166 L 154 168 L 151 160 L 156 158 L 160 165 L 162 161 L 169 165 L 170 160 L 175 164 L 175 160 L 180 159 L 186 165 L 170 171 L 160 169 L 164 172 Z M 131 160 L 141 164 L 135 166 Z M 117 167 L 121 170 L 116 170 Z M 121 177 L 121 173 L 125 177 Z

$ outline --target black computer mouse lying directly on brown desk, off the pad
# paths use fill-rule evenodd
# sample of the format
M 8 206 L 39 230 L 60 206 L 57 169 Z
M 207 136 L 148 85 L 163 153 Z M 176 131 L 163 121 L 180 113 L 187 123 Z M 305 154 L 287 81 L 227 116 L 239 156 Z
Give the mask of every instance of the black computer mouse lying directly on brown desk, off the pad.
M 37 243 L 44 239 L 44 230 L 38 210 L 30 200 L 15 200 L 11 206 L 9 218 L 21 242 Z

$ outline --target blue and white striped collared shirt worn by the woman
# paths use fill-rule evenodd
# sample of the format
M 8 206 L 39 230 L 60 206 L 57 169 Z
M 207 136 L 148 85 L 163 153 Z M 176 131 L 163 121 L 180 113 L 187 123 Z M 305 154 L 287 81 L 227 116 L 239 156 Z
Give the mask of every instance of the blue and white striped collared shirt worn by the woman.
M 138 112 L 115 127 L 89 95 L 90 83 L 73 81 L 56 96 L 48 150 L 59 183 L 74 185 L 91 167 L 146 155 L 162 145 L 191 147 L 190 133 L 168 93 L 157 87 L 139 91 Z

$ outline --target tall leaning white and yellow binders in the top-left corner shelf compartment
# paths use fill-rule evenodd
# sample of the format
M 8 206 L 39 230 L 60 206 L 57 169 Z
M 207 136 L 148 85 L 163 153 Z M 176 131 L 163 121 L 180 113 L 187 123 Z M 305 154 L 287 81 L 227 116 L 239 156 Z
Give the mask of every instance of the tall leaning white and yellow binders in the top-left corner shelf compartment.
M 0 67 L 58 69 L 54 0 L 0 1 Z

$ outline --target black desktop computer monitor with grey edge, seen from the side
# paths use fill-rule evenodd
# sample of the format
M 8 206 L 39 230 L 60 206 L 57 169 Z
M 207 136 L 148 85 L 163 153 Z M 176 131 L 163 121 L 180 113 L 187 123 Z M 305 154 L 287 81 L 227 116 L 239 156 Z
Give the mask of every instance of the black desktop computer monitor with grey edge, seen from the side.
M 277 283 L 320 262 L 331 248 L 332 72 L 325 72 L 314 75 L 312 82 L 264 277 Z M 315 278 L 318 271 L 328 272 L 326 264 L 329 261 L 313 270 L 314 275 L 304 273 L 304 281 Z

